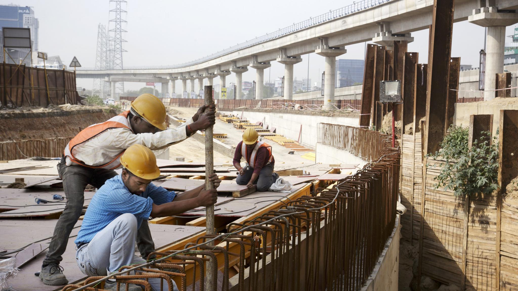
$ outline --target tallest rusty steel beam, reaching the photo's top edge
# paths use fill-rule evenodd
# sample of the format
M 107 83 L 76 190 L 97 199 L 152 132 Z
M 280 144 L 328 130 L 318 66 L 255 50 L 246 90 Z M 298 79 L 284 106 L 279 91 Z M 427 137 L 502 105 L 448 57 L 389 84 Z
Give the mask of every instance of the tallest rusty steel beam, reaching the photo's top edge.
M 426 95 L 425 152 L 435 153 L 444 135 L 453 32 L 453 1 L 434 0 Z M 425 177 L 423 177 L 424 179 Z

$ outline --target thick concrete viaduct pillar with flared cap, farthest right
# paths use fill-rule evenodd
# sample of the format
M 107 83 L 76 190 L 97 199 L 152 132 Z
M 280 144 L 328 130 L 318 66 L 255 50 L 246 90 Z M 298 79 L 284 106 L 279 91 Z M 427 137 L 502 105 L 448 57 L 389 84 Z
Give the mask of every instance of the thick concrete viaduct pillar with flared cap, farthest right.
M 477 1 L 480 6 L 480 1 Z M 487 1 L 490 2 L 490 1 Z M 503 72 L 506 26 L 518 23 L 518 13 L 497 12 L 494 6 L 473 9 L 468 21 L 487 27 L 484 100 L 495 98 L 496 74 Z

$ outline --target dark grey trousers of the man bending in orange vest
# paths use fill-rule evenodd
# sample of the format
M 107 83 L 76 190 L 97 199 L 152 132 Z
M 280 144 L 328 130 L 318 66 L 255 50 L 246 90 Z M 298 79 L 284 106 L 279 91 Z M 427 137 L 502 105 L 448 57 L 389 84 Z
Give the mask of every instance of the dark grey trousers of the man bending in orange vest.
M 113 170 L 93 169 L 76 164 L 67 166 L 65 158 L 61 158 L 61 162 L 57 165 L 57 172 L 63 180 L 63 190 L 67 199 L 65 209 L 54 228 L 43 265 L 59 264 L 63 260 L 62 255 L 65 253 L 68 237 L 83 210 L 84 188 L 88 184 L 100 188 L 106 180 L 117 176 Z M 143 222 L 138 229 L 137 246 L 143 258 L 155 251 L 147 222 Z

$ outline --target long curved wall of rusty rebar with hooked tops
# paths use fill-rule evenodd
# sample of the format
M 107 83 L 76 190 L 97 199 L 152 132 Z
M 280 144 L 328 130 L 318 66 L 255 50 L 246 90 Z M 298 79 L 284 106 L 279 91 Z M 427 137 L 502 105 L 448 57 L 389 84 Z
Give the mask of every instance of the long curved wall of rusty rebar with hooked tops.
M 371 163 L 333 187 L 318 188 L 242 224 L 231 223 L 225 234 L 197 237 L 181 250 L 152 253 L 146 264 L 123 267 L 116 279 L 171 278 L 179 290 L 202 290 L 206 278 L 201 274 L 215 264 L 213 278 L 219 280 L 214 291 L 359 289 L 395 227 L 400 150 L 392 148 L 390 136 L 368 129 L 320 128 L 331 140 L 347 138 L 343 147 L 371 157 Z M 128 270 L 136 273 L 121 275 Z M 77 289 L 103 279 L 89 278 Z M 163 290 L 172 290 L 163 281 Z

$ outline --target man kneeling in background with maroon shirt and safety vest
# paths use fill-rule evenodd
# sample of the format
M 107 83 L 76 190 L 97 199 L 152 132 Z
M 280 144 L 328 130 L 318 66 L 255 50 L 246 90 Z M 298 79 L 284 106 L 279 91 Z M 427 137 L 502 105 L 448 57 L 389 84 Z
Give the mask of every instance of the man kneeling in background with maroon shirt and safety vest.
M 251 188 L 257 183 L 257 191 L 268 191 L 279 175 L 274 173 L 275 159 L 271 154 L 271 147 L 264 141 L 257 141 L 259 135 L 255 128 L 244 130 L 243 141 L 237 144 L 234 153 L 234 167 L 239 171 L 236 178 L 238 185 L 247 185 Z M 241 157 L 246 159 L 248 166 L 241 167 Z

